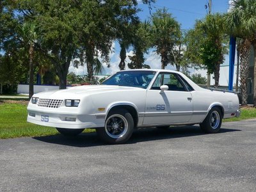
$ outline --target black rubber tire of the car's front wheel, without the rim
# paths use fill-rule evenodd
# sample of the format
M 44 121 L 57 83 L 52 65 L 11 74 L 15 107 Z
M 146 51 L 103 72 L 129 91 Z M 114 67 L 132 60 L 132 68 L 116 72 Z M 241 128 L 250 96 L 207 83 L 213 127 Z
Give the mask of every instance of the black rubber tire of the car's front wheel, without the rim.
M 134 120 L 132 118 L 132 115 L 126 109 L 116 109 L 116 110 L 110 111 L 106 120 L 108 119 L 109 116 L 115 115 L 115 114 L 122 115 L 127 120 L 127 123 L 128 123 L 127 132 L 124 134 L 124 136 L 122 136 L 120 138 L 111 138 L 106 133 L 105 127 L 97 128 L 96 132 L 97 132 L 98 136 L 100 137 L 100 139 L 105 141 L 106 143 L 109 143 L 109 144 L 125 143 L 132 136 L 132 132 L 134 129 Z

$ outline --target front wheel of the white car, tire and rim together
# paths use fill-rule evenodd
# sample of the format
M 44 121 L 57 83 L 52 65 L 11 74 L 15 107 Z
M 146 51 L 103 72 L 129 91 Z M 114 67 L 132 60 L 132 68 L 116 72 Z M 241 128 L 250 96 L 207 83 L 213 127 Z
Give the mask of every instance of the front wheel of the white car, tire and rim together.
M 99 138 L 106 143 L 125 143 L 132 136 L 134 120 L 126 109 L 111 111 L 105 122 L 105 127 L 96 129 Z

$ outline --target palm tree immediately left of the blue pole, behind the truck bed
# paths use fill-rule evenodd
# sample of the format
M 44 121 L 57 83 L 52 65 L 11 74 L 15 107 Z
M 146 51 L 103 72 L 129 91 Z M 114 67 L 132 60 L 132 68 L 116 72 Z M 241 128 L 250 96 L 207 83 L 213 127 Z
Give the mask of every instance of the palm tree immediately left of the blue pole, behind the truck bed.
M 223 46 L 223 42 L 225 40 L 225 31 L 223 25 L 223 15 L 220 13 L 207 15 L 204 20 L 200 20 L 196 23 L 196 28 L 202 31 L 207 38 L 209 38 L 210 42 L 214 42 L 214 47 L 216 47 L 216 54 L 214 55 L 214 60 L 216 62 L 211 63 L 213 68 L 212 72 L 214 73 L 214 86 L 219 86 L 220 79 L 220 64 L 223 63 L 224 54 L 226 52 L 225 46 Z M 208 68 L 208 72 L 209 68 Z

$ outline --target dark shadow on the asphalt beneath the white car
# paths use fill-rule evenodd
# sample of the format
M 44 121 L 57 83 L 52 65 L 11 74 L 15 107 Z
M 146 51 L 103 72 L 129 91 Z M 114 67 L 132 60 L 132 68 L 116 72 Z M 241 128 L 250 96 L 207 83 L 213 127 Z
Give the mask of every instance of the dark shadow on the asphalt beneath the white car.
M 221 129 L 218 134 L 224 132 L 234 132 L 241 131 L 239 129 Z M 166 140 L 172 138 L 185 138 L 191 136 L 200 136 L 205 133 L 201 131 L 199 126 L 189 125 L 189 126 L 175 126 L 168 129 L 162 128 L 142 128 L 134 130 L 131 138 L 123 145 L 129 145 L 134 143 L 140 143 L 145 141 L 154 141 L 154 140 Z M 38 141 L 43 141 L 46 143 L 58 144 L 58 145 L 67 145 L 72 147 L 95 147 L 100 145 L 108 145 L 102 142 L 95 132 L 92 133 L 82 133 L 76 137 L 65 137 L 61 134 L 56 134 L 52 136 L 38 136 L 33 137 L 33 139 Z

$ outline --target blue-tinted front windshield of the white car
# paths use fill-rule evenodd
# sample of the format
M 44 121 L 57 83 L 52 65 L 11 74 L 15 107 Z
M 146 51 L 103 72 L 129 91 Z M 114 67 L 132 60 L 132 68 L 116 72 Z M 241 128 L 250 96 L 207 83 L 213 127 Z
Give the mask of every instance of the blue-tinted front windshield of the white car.
M 146 89 L 156 72 L 154 71 L 122 71 L 106 79 L 102 84 L 132 86 Z

